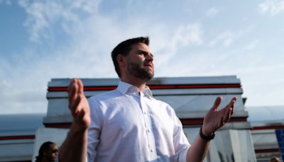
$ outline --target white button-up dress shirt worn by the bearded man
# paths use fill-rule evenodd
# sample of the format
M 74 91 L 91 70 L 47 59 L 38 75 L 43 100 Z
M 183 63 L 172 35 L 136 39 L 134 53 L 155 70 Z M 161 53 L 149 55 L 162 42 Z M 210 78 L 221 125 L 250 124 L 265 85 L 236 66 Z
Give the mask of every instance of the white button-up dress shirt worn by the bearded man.
M 170 105 L 146 87 L 119 82 L 116 90 L 89 98 L 91 126 L 87 158 L 92 161 L 185 161 L 190 144 Z

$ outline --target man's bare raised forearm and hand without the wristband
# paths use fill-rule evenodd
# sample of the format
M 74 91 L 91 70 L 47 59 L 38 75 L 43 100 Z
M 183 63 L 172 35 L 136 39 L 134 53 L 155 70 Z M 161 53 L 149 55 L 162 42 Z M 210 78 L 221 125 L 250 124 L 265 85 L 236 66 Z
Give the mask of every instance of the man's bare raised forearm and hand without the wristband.
M 70 131 L 60 146 L 59 161 L 86 161 L 87 133 L 91 124 L 89 103 L 81 80 L 73 79 L 68 87 L 69 109 L 73 116 Z

